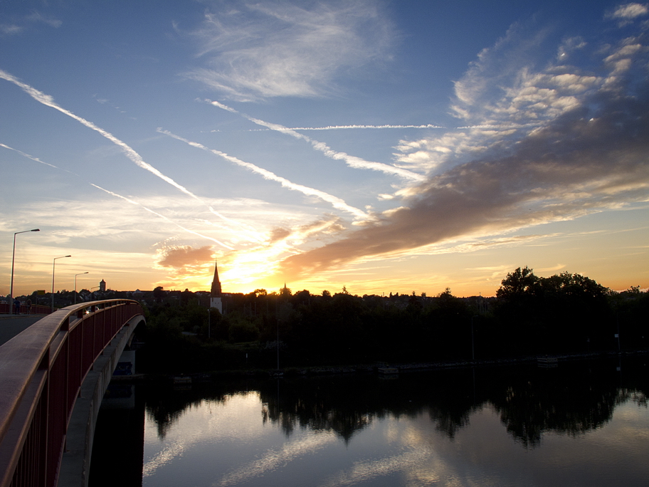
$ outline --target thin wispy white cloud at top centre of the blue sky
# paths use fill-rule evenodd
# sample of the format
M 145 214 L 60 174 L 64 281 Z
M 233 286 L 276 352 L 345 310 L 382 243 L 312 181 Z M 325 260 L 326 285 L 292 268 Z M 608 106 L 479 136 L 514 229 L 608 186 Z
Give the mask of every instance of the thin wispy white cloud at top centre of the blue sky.
M 204 66 L 185 73 L 239 101 L 317 97 L 349 70 L 389 58 L 394 35 L 374 0 L 229 2 L 193 35 Z

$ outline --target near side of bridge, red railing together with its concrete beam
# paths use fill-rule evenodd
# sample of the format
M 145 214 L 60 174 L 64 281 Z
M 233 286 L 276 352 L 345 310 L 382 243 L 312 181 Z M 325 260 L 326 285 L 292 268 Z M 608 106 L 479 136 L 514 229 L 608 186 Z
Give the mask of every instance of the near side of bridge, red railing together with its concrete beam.
M 143 322 L 137 301 L 81 303 L 0 346 L 0 487 L 88 484 L 101 399 Z

